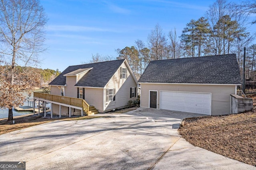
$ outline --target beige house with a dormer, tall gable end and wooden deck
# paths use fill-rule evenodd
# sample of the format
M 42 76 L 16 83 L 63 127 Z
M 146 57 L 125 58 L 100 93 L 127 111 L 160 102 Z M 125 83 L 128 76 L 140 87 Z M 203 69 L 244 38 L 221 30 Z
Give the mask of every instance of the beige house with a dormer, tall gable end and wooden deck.
M 126 59 L 69 66 L 49 85 L 51 95 L 66 96 L 67 99 L 61 100 L 70 100 L 68 104 L 52 103 L 54 114 L 81 115 L 82 106 L 70 104 L 75 98 L 83 100 L 90 108 L 94 106 L 91 113 L 122 108 L 128 106 L 129 100 L 137 99 L 138 82 Z

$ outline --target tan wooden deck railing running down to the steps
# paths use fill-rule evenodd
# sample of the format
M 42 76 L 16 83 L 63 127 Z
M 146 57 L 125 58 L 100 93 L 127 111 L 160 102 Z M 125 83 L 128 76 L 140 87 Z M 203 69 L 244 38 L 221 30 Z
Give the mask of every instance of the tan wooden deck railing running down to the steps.
M 34 92 L 34 97 L 61 104 L 67 104 L 76 107 L 82 107 L 86 113 L 89 111 L 89 104 L 84 99 L 72 98 L 67 96 L 58 96 L 53 94 Z

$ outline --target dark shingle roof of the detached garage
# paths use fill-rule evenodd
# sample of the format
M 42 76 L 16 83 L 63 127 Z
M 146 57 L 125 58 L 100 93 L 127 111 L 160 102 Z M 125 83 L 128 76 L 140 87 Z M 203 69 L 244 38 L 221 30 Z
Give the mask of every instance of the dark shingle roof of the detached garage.
M 241 84 L 235 54 L 150 61 L 139 83 Z

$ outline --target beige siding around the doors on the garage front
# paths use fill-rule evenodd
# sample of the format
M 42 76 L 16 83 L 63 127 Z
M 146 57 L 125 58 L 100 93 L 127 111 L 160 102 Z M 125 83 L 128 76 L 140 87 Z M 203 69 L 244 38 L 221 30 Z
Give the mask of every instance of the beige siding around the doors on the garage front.
M 149 91 L 157 90 L 157 108 L 160 107 L 160 91 L 206 92 L 212 94 L 212 115 L 230 113 L 230 94 L 236 86 L 232 85 L 185 85 L 185 84 L 141 84 L 141 107 L 149 107 Z

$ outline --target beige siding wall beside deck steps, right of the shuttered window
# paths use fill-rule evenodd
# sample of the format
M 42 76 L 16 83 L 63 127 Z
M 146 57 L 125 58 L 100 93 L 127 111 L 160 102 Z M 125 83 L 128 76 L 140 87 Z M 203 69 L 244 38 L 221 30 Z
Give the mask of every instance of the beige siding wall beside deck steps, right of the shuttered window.
M 84 100 L 103 112 L 103 88 L 84 88 Z

